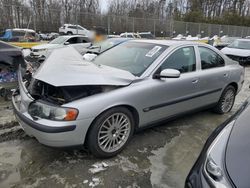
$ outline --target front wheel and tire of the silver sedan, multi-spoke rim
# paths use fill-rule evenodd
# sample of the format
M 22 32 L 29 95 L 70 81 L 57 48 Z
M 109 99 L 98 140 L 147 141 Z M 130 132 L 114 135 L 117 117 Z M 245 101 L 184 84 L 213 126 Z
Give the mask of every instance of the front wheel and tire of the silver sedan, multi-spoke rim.
M 118 124 L 113 125 L 113 122 Z M 88 149 L 98 158 L 113 157 L 126 147 L 134 133 L 134 127 L 133 115 L 127 108 L 107 110 L 90 127 L 87 135 Z

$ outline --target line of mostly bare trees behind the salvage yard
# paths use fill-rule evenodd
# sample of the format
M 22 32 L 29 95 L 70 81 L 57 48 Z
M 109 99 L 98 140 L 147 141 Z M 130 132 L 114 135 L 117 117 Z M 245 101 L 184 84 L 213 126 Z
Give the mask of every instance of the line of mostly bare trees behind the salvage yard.
M 63 23 L 108 27 L 110 16 L 250 26 L 250 0 L 107 0 L 107 7 L 101 1 L 0 0 L 0 29 L 51 32 Z

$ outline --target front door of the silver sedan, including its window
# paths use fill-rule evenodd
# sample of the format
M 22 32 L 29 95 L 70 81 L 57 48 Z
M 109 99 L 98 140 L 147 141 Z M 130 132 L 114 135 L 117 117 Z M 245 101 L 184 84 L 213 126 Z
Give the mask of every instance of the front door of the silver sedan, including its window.
M 200 92 L 196 67 L 194 46 L 178 48 L 161 64 L 156 73 L 164 69 L 176 69 L 181 72 L 181 76 L 148 78 L 149 100 L 144 104 L 142 125 L 144 121 L 146 123 L 170 118 L 201 106 L 202 101 L 196 99 Z

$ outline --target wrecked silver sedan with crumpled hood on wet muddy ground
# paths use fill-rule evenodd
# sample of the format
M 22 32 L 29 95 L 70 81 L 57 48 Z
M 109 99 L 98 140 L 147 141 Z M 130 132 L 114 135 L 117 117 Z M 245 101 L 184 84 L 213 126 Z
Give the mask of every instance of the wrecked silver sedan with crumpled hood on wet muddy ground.
M 85 145 L 111 157 L 134 132 L 201 110 L 231 110 L 244 69 L 206 44 L 133 40 L 92 62 L 55 50 L 32 76 L 18 73 L 12 97 L 28 135 L 53 147 Z M 27 71 L 26 71 L 27 72 Z

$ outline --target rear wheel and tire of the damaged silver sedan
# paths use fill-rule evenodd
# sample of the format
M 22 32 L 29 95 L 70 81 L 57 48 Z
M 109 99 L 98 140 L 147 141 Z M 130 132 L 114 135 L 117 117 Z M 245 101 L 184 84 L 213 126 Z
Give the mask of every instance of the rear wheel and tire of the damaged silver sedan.
M 213 109 L 218 114 L 225 114 L 231 111 L 236 97 L 236 89 L 229 85 L 221 94 L 220 100 Z

